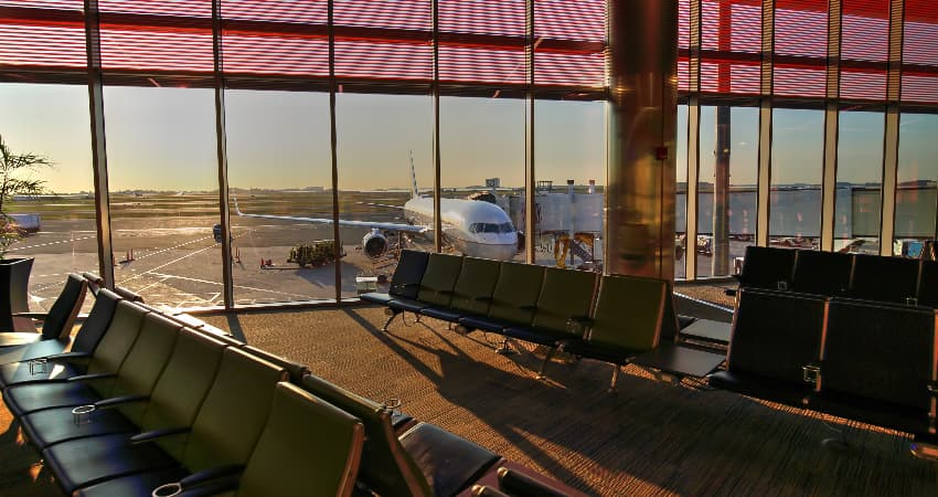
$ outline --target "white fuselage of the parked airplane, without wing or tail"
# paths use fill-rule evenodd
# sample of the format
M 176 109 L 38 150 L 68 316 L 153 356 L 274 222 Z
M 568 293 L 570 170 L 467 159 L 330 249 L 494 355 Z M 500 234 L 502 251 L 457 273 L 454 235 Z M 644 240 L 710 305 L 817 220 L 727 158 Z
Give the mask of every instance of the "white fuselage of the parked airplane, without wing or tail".
M 440 199 L 443 235 L 462 254 L 471 257 L 511 261 L 518 254 L 518 231 L 500 207 L 463 199 Z M 431 226 L 434 199 L 415 197 L 404 204 L 411 224 Z

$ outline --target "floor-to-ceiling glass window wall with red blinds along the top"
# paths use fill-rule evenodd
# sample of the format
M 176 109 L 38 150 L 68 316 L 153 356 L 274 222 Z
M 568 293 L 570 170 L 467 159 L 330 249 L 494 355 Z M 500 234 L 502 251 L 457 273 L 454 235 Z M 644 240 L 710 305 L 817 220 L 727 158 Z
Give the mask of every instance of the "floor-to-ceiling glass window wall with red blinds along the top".
M 930 0 L 678 6 L 676 278 L 936 236 Z M 0 135 L 60 194 L 13 202 L 41 226 L 8 256 L 40 304 L 100 271 L 172 307 L 352 298 L 402 247 L 603 271 L 606 15 L 0 0 Z

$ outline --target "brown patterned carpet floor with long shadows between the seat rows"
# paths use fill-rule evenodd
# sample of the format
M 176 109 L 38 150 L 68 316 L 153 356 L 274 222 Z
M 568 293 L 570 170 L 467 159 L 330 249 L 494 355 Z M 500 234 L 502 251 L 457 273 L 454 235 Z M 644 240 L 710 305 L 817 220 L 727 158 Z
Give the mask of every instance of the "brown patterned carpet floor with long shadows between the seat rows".
M 487 338 L 439 321 L 379 327 L 381 308 L 204 316 L 255 347 L 305 362 L 323 378 L 404 410 L 590 495 L 934 496 L 936 467 L 895 433 L 733 393 L 672 384 L 629 367 L 605 393 L 610 368 L 555 361 L 548 381 L 531 347 L 504 357 Z M 39 457 L 15 443 L 0 413 L 0 494 L 56 495 Z M 39 484 L 32 475 L 39 474 Z

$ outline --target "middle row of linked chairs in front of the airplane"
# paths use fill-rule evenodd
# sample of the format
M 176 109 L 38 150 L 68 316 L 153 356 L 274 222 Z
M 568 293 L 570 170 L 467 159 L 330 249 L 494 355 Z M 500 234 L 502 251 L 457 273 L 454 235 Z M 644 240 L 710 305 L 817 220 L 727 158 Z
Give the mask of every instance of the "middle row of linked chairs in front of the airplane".
M 387 306 L 383 329 L 403 313 L 429 316 L 620 367 L 673 339 L 670 282 L 405 250 L 387 293 L 361 298 Z M 505 342 L 502 347 L 507 346 Z

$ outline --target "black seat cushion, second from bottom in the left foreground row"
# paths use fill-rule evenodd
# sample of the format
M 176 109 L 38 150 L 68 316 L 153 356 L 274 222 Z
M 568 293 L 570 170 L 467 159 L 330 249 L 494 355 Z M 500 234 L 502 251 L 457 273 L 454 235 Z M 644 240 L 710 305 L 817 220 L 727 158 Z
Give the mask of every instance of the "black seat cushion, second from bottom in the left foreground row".
M 66 494 L 109 478 L 179 466 L 159 445 L 134 445 L 126 434 L 63 442 L 42 455 Z

